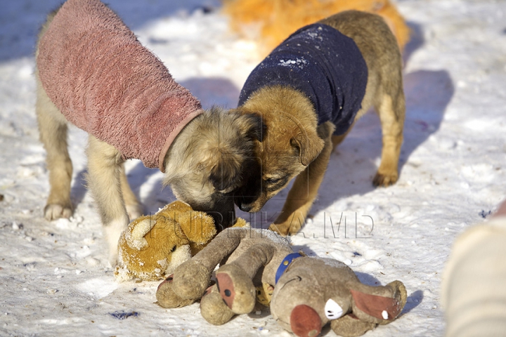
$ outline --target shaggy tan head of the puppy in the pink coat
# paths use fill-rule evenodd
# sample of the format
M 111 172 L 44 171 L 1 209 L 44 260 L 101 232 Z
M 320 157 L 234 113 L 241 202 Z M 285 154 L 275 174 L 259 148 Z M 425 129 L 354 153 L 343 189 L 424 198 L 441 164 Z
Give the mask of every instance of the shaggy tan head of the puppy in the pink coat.
M 233 225 L 234 191 L 248 180 L 247 169 L 259 166 L 254 147 L 261 128 L 256 115 L 217 107 L 205 111 L 169 148 L 164 185 L 171 185 L 174 195 L 195 211 L 212 216 L 217 230 Z

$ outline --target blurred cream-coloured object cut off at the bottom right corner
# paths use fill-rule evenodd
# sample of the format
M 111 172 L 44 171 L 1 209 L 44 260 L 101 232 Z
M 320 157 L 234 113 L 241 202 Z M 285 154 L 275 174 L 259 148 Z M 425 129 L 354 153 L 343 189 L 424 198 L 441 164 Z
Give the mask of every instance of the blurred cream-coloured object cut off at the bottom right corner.
M 441 302 L 447 337 L 506 336 L 506 201 L 453 245 Z

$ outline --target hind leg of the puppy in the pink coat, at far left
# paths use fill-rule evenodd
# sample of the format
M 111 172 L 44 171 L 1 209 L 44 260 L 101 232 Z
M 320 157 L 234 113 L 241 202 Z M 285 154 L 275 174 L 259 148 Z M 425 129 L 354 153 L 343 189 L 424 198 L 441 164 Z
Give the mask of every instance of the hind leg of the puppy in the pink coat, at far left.
M 51 102 L 42 88 L 37 75 L 37 103 L 35 105 L 39 136 L 46 149 L 46 162 L 49 173 L 49 196 L 44 207 L 44 218 L 70 218 L 70 183 L 72 180 L 72 161 L 67 150 L 67 121 Z

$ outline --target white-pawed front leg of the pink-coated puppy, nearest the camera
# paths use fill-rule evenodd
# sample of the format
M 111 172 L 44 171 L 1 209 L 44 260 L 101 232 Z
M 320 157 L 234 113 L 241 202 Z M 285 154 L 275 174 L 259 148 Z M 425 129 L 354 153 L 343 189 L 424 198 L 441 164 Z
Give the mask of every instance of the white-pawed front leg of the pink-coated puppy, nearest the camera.
M 119 236 L 129 224 L 121 186 L 124 159 L 115 147 L 91 135 L 86 152 L 88 154 L 88 185 L 104 225 L 110 263 L 114 265 Z

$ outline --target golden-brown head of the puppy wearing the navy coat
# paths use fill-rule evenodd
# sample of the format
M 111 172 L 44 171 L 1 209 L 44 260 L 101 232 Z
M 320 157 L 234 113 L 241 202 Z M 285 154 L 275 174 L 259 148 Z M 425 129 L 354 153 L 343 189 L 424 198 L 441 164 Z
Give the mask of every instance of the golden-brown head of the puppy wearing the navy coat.
M 235 204 L 242 211 L 257 212 L 306 169 L 324 142 L 317 133 L 313 105 L 292 88 L 261 88 L 235 111 L 256 114 L 265 126 L 255 140 L 260 168 L 249 168 L 247 182 L 235 192 Z

